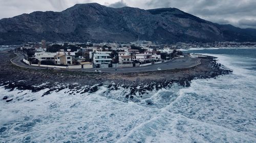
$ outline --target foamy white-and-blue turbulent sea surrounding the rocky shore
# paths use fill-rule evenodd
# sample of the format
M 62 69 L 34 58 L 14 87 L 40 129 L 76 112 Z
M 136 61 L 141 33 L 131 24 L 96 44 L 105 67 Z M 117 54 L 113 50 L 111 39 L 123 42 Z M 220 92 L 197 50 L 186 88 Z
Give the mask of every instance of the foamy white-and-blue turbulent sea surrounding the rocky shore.
M 122 102 L 124 89 L 106 94 L 104 86 L 44 97 L 48 89 L 2 86 L 0 142 L 256 142 L 256 48 L 189 52 L 214 55 L 233 73 L 174 84 L 140 102 Z

